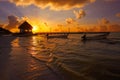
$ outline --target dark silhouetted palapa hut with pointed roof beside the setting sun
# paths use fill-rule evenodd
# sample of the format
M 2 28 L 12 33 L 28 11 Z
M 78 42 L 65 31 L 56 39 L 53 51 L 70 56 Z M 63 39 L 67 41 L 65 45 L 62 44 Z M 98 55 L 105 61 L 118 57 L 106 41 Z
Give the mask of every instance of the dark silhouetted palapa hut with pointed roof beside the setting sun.
M 32 33 L 32 26 L 27 22 L 23 22 L 19 27 L 20 33 Z

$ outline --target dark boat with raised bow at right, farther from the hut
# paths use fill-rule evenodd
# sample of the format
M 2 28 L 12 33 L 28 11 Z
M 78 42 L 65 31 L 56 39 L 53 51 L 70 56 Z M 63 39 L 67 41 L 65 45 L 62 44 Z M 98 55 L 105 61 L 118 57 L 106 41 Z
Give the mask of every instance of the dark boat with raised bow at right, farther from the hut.
M 102 33 L 95 36 L 86 36 L 86 34 L 84 34 L 81 38 L 82 40 L 101 40 L 101 39 L 106 39 L 109 34 L 110 34 L 109 32 Z

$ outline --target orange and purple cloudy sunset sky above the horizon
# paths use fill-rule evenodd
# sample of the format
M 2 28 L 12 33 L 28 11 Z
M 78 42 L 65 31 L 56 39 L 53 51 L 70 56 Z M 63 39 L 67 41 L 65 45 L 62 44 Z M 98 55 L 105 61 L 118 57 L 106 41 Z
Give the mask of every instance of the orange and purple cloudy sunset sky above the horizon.
M 0 0 L 0 26 L 39 31 L 120 31 L 120 0 Z

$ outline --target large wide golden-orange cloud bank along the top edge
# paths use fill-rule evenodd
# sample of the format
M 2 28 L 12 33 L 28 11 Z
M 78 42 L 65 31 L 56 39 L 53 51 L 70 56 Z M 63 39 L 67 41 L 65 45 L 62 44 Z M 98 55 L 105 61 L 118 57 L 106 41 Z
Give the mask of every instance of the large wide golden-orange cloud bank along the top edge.
M 72 8 L 80 8 L 95 0 L 10 0 L 18 6 L 35 5 L 40 8 L 49 7 L 51 10 L 69 10 Z

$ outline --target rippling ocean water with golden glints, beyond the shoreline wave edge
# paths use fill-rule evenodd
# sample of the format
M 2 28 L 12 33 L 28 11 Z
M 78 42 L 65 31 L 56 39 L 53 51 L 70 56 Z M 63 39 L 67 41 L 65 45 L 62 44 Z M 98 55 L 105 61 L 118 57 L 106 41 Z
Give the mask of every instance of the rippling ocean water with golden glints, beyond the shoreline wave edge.
M 47 39 L 40 35 L 17 37 L 10 42 L 11 57 L 15 59 L 16 51 L 23 53 L 22 50 L 25 49 L 30 57 L 38 61 L 37 64 L 40 62 L 45 65 L 44 68 L 49 69 L 59 80 L 120 80 L 120 33 L 111 33 L 104 40 L 82 41 L 81 36 L 82 34 L 70 34 L 67 39 Z M 35 64 L 32 66 L 37 68 Z M 48 70 L 44 68 L 41 71 L 47 73 Z M 34 69 L 30 71 L 32 73 Z M 43 73 L 34 72 L 32 75 L 34 74 Z M 47 80 L 35 78 L 41 75 L 27 75 L 29 79 L 23 80 Z

